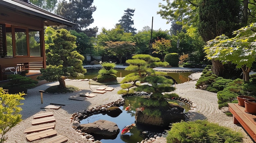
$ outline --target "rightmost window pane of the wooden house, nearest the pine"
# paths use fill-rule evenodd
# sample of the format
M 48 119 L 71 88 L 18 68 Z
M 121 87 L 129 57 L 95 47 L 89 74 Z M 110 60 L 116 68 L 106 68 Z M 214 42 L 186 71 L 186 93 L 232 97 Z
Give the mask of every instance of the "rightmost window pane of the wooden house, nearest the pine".
M 40 31 L 29 29 L 29 54 L 30 56 L 41 56 Z

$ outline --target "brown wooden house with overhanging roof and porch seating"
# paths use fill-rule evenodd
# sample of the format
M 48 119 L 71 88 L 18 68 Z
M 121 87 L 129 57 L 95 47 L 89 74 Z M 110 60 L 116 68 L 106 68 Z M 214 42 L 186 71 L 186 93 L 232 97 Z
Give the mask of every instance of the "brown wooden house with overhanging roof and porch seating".
M 46 67 L 44 26 L 74 26 L 27 0 L 0 0 L 0 81 Z

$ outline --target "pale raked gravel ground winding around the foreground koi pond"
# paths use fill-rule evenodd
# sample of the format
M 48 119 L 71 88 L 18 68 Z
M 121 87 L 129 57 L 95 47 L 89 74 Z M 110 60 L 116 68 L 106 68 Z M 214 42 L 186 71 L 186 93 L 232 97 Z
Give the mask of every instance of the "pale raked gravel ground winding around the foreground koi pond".
M 201 73 L 192 74 L 193 79 L 198 79 Z M 90 107 L 103 105 L 110 103 L 121 98 L 121 95 L 117 94 L 117 91 L 120 90 L 120 85 L 110 85 L 114 87 L 115 90 L 111 92 L 106 92 L 104 94 L 98 94 L 95 97 L 88 98 L 84 101 L 69 100 L 70 96 L 79 94 L 81 92 L 90 92 L 96 90 L 101 86 L 91 85 L 89 87 L 89 81 L 66 81 L 66 85 L 76 86 L 81 89 L 81 91 L 76 93 L 69 94 L 57 94 L 51 95 L 43 93 L 43 104 L 40 103 L 40 93 L 39 90 L 45 90 L 49 86 L 58 85 L 58 82 L 53 82 L 49 84 L 43 84 L 33 89 L 29 89 L 25 100 L 22 101 L 22 122 L 12 128 L 11 131 L 7 132 L 8 139 L 6 143 L 38 143 L 45 139 L 28 142 L 26 139 L 26 134 L 23 133 L 26 128 L 31 127 L 31 121 L 34 114 L 44 113 L 44 112 L 53 112 L 54 117 L 56 118 L 56 128 L 57 134 L 67 136 L 67 143 L 92 143 L 87 141 L 84 138 L 81 138 L 77 132 L 72 128 L 72 123 L 69 121 L 71 115 L 74 112 L 85 110 Z M 176 90 L 174 91 L 180 97 L 185 97 L 194 102 L 194 112 L 191 112 L 191 121 L 197 119 L 207 119 L 210 122 L 218 123 L 219 125 L 227 126 L 232 128 L 235 131 L 242 132 L 245 135 L 243 143 L 253 143 L 249 136 L 245 133 L 242 127 L 239 125 L 233 124 L 232 117 L 227 117 L 222 110 L 218 109 L 218 99 L 216 93 L 207 92 L 204 90 L 199 90 L 195 88 L 196 81 L 189 81 L 183 84 L 177 84 Z M 91 88 L 91 89 L 90 89 Z M 62 106 L 58 110 L 53 109 L 41 109 L 41 106 L 47 106 L 49 103 L 54 102 L 63 102 L 66 103 L 66 106 Z M 153 143 L 166 143 L 166 139 L 161 137 Z

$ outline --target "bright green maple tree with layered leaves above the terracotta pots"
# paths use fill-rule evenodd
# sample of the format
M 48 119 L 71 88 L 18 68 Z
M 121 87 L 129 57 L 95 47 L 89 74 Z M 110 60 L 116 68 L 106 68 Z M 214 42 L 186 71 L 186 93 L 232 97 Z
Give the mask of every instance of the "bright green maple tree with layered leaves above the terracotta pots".
M 220 35 L 209 40 L 204 46 L 207 58 L 236 64 L 236 68 L 243 70 L 245 81 L 249 81 L 249 71 L 256 57 L 255 29 L 256 23 L 234 31 L 234 38 Z

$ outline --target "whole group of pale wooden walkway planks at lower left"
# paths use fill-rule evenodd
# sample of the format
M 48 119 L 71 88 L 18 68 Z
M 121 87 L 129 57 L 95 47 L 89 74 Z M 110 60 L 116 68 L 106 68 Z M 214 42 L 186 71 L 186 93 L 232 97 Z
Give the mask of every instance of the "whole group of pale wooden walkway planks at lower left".
M 35 141 L 38 139 L 49 138 L 40 143 L 65 143 L 67 137 L 57 135 L 55 129 L 55 118 L 52 112 L 35 114 L 32 120 L 32 126 L 27 128 L 24 133 L 27 133 L 28 141 Z

